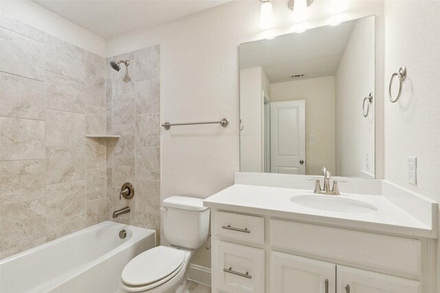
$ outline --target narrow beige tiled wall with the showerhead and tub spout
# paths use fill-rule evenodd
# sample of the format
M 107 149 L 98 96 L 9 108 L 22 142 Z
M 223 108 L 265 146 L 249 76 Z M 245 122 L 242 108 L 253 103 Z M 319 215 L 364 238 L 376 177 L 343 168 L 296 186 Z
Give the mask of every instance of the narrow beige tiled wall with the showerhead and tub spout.
M 124 82 L 125 66 L 111 69 L 111 60 L 129 60 L 131 82 Z M 157 231 L 160 222 L 160 48 L 159 45 L 107 58 L 107 218 Z M 135 187 L 131 200 L 119 200 L 122 184 Z M 111 218 L 115 209 L 131 212 Z

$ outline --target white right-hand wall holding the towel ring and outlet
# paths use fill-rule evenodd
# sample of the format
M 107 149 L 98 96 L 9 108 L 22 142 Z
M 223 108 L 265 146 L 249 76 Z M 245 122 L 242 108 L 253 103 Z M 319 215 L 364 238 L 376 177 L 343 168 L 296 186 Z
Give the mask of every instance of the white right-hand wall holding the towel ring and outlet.
M 399 101 L 393 104 L 388 97 L 385 99 L 385 178 L 437 202 L 440 202 L 439 15 L 440 1 L 385 3 L 386 95 L 391 74 L 402 65 L 408 68 Z M 417 186 L 406 182 L 407 156 L 417 156 Z M 440 292 L 440 277 L 437 292 Z

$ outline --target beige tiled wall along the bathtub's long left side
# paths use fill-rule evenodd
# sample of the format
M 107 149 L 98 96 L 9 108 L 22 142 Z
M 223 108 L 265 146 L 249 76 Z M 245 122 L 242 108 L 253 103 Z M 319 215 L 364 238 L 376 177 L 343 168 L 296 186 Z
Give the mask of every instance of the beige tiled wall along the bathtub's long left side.
M 0 71 L 3 258 L 106 220 L 105 59 L 1 17 Z

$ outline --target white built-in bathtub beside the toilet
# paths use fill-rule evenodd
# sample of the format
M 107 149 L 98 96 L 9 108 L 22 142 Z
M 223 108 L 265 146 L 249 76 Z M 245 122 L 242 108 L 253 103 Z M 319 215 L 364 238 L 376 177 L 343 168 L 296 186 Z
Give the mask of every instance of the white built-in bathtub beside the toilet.
M 154 246 L 153 230 L 102 222 L 1 260 L 0 292 L 118 292 L 126 263 Z

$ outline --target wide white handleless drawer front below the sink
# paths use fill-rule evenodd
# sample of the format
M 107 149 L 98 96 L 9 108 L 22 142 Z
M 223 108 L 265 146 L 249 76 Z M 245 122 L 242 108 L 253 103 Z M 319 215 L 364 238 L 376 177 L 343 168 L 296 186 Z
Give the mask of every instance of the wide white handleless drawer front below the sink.
M 421 241 L 270 220 L 270 246 L 419 276 Z

